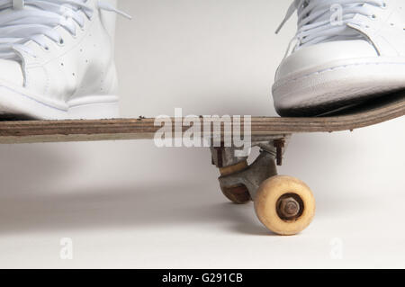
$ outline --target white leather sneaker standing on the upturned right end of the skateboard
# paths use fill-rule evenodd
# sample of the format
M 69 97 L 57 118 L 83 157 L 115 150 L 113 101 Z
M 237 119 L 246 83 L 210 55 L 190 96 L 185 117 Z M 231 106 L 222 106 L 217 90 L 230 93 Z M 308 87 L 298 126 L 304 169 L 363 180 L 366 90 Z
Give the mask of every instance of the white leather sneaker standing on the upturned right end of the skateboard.
M 405 88 L 405 0 L 295 0 L 284 22 L 296 10 L 298 31 L 273 86 L 281 115 L 318 115 Z

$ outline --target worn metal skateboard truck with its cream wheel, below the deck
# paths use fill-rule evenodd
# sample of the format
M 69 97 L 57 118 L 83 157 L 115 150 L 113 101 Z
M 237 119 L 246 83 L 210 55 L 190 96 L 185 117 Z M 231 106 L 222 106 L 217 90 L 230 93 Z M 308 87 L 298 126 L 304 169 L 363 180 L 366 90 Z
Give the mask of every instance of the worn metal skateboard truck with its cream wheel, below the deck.
M 251 164 L 238 157 L 238 148 L 211 148 L 212 164 L 220 169 L 220 190 L 229 201 L 255 202 L 257 217 L 267 229 L 281 235 L 301 232 L 315 213 L 311 189 L 299 179 L 277 175 L 291 135 L 256 139 L 260 154 Z

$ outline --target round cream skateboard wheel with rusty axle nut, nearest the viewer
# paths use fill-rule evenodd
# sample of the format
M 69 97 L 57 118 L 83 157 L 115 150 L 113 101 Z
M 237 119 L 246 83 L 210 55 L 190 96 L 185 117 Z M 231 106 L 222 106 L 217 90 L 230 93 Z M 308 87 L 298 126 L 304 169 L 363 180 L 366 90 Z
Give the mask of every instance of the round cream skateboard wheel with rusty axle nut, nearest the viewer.
M 279 235 L 294 235 L 306 229 L 313 220 L 315 198 L 301 180 L 276 175 L 258 189 L 255 211 L 267 229 Z

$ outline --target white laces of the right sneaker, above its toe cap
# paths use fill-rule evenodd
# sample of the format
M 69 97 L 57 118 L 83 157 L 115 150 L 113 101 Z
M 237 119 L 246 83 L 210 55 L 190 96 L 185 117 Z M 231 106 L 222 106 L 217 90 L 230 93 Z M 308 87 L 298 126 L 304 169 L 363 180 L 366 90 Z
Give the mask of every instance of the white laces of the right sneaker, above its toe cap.
M 331 22 L 331 7 L 339 5 L 342 12 L 340 23 Z M 300 49 L 304 46 L 318 44 L 331 40 L 354 40 L 364 39 L 364 36 L 347 26 L 347 24 L 364 25 L 355 20 L 357 14 L 374 18 L 375 7 L 384 8 L 383 0 L 294 0 L 288 12 L 278 27 L 278 33 L 295 11 L 298 11 L 298 30 L 290 43 L 289 50 Z M 335 6 L 336 7 L 336 6 Z

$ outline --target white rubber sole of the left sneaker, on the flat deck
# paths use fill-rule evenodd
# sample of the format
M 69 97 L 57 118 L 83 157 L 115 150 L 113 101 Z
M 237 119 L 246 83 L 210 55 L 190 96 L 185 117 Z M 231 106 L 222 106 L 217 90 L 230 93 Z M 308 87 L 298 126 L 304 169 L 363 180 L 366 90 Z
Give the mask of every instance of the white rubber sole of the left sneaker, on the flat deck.
M 113 119 L 120 115 L 118 97 L 89 95 L 70 103 L 49 103 L 38 95 L 0 85 L 0 119 L 94 120 Z

